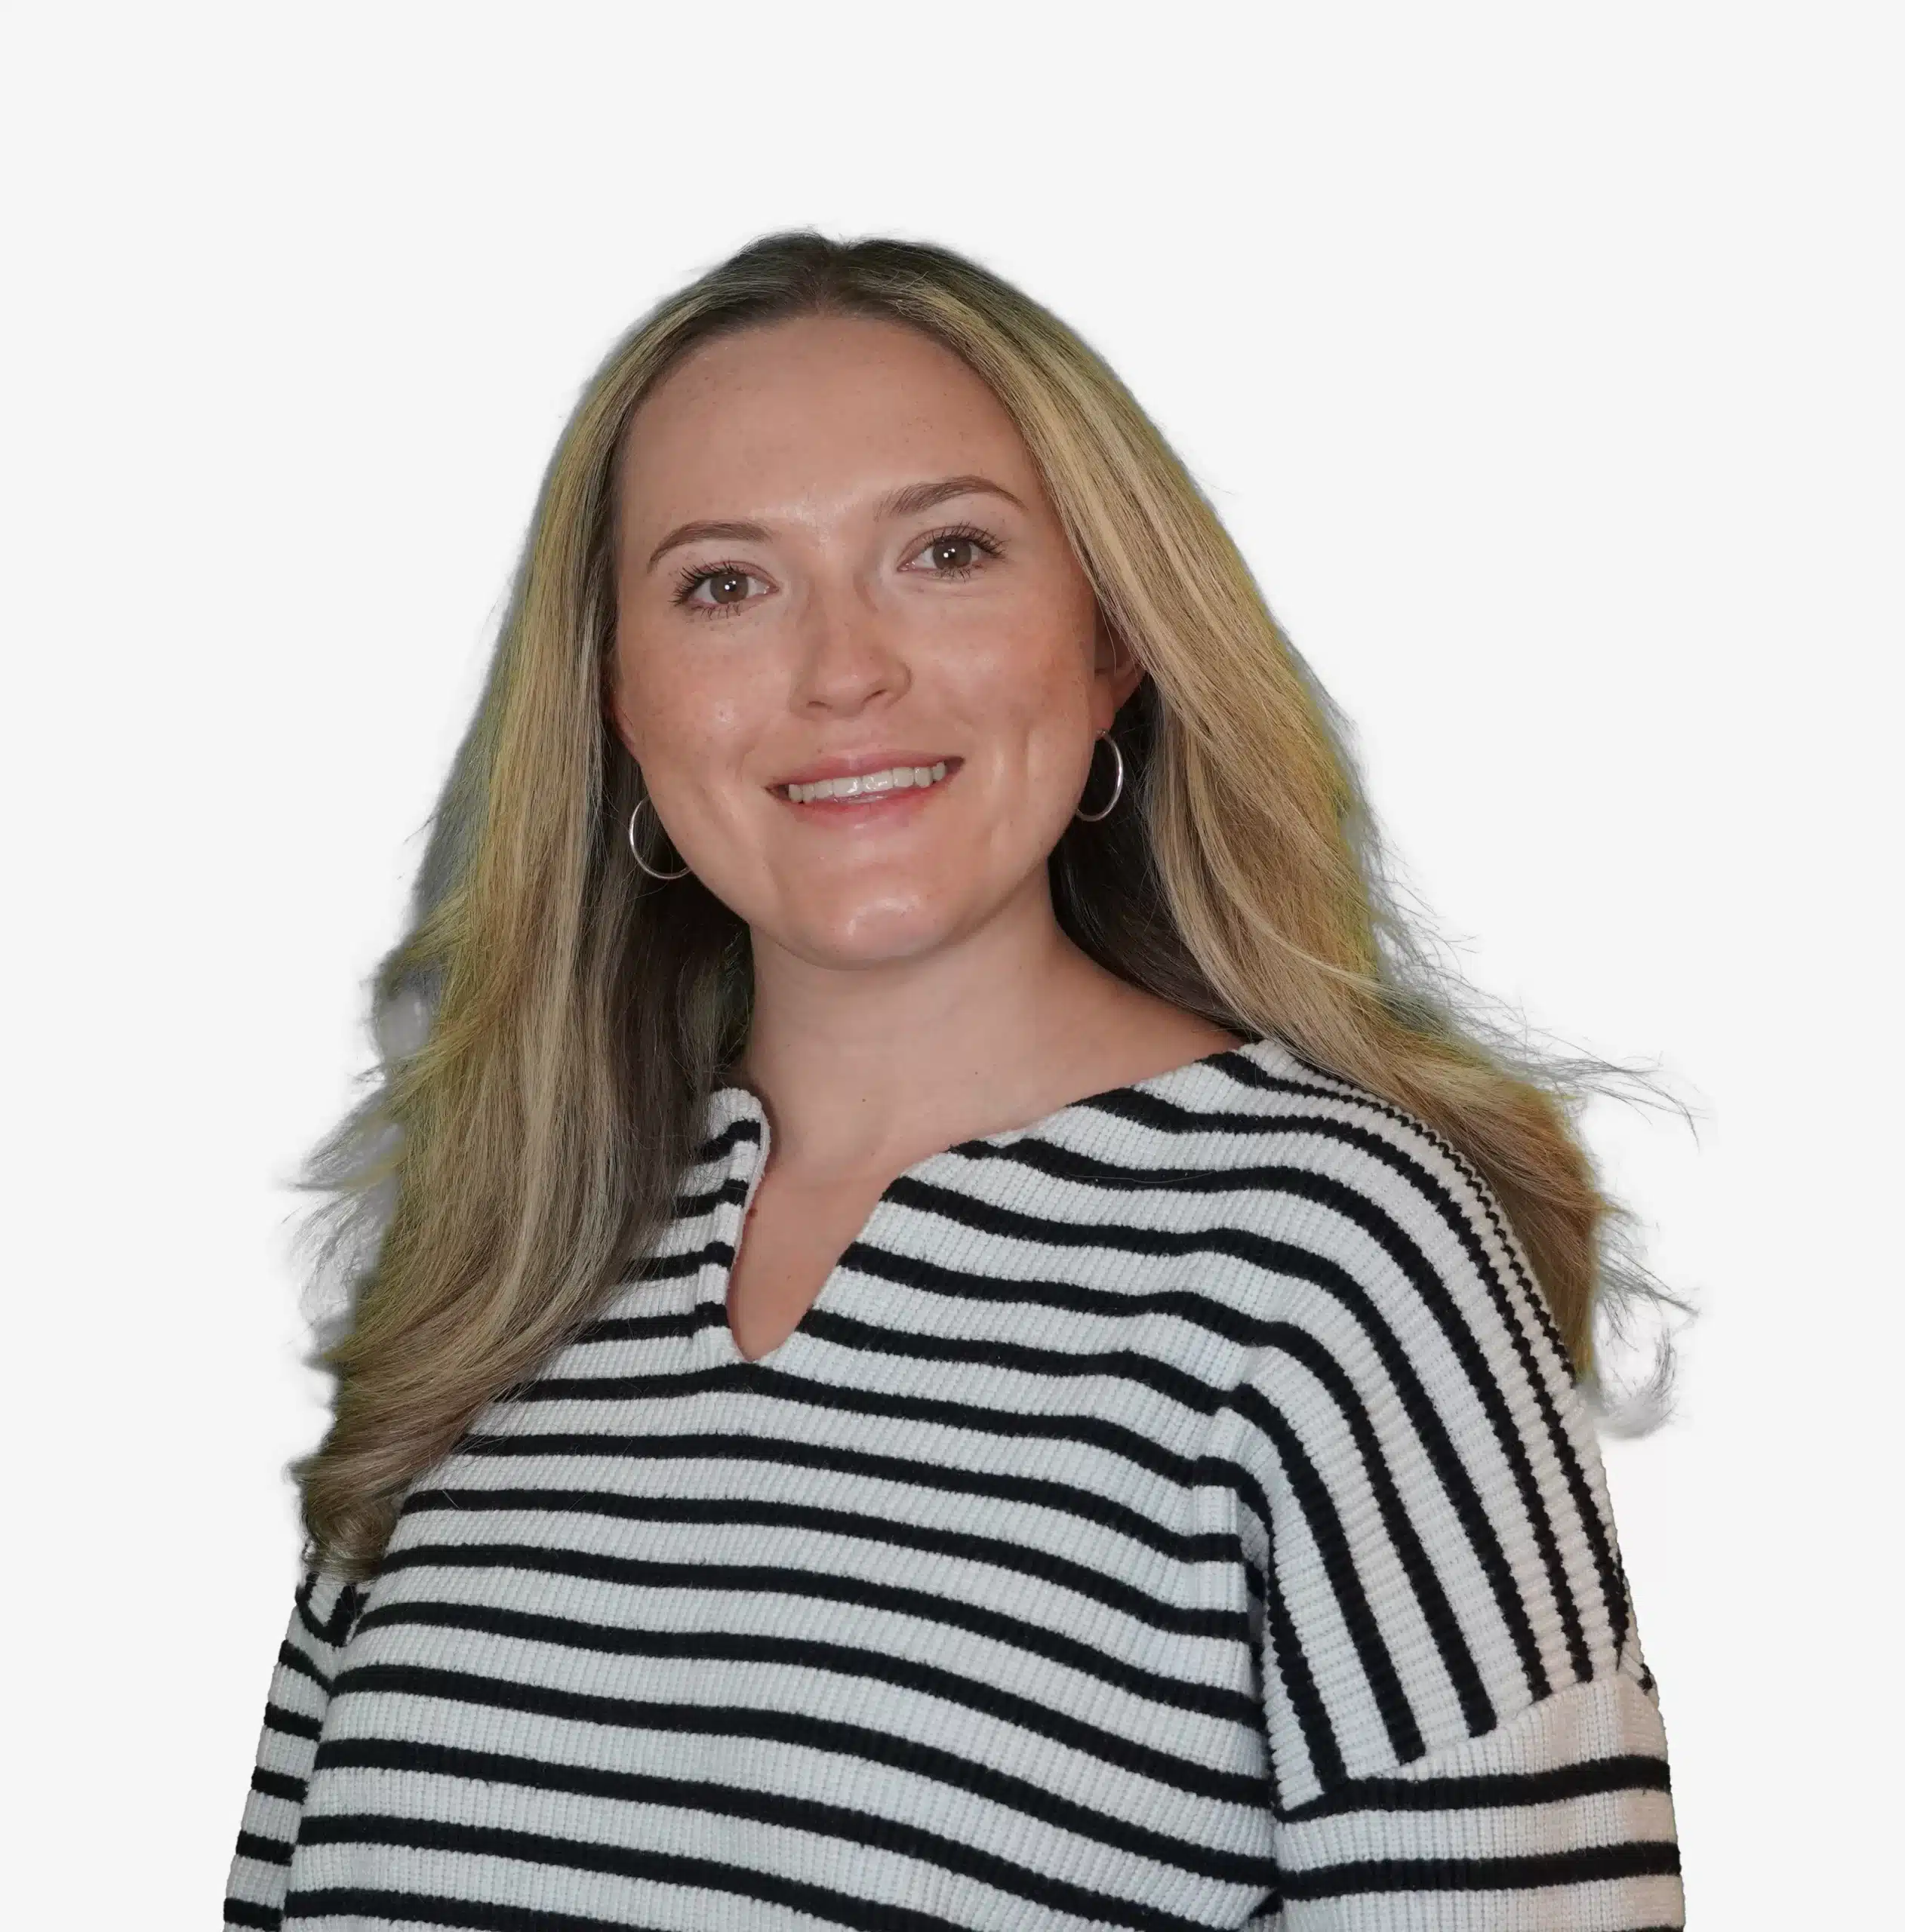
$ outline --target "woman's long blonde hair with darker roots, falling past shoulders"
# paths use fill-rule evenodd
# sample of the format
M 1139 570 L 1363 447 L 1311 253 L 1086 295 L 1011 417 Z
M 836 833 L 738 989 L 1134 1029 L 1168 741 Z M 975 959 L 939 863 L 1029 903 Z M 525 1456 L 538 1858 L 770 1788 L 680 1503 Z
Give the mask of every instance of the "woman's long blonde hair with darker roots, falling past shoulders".
M 410 931 L 371 985 L 373 1090 L 298 1179 L 330 1196 L 305 1236 L 346 1293 L 317 1354 L 334 1420 L 296 1474 L 307 1557 L 346 1575 L 375 1569 L 408 1484 L 661 1235 L 746 1043 L 746 925 L 692 875 L 645 879 L 622 842 L 641 777 L 603 705 L 614 475 L 634 410 L 688 350 L 815 313 L 910 325 L 985 379 L 1148 672 L 1115 724 L 1132 804 L 1074 821 L 1049 860 L 1065 931 L 1445 1136 L 1499 1196 L 1582 1378 L 1596 1302 L 1663 1296 L 1615 1256 L 1631 1217 L 1571 1124 L 1621 1070 L 1517 1051 L 1432 962 L 1333 705 L 1124 384 L 949 249 L 765 236 L 638 323 L 556 444 Z

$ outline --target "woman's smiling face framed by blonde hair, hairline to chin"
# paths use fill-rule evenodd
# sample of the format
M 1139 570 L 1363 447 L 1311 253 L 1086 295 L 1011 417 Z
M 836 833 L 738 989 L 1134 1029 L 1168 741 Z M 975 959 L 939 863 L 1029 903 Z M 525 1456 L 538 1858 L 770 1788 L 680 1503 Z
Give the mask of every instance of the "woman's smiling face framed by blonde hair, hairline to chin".
M 866 966 L 1045 893 L 1094 736 L 1140 672 L 1111 668 L 978 375 L 867 317 L 723 336 L 641 404 L 620 485 L 612 721 L 643 817 L 757 945 Z M 788 792 L 848 773 L 891 782 Z

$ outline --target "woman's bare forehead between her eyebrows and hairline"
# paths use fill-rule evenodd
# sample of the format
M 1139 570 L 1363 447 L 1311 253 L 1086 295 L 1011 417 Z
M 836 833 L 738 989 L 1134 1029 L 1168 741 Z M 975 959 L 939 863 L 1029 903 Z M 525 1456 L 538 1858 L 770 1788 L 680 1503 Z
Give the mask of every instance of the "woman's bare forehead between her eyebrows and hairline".
M 790 498 L 846 504 L 962 471 L 1039 493 L 985 381 L 922 330 L 864 315 L 701 344 L 643 398 L 620 456 L 624 518 L 640 524 Z

